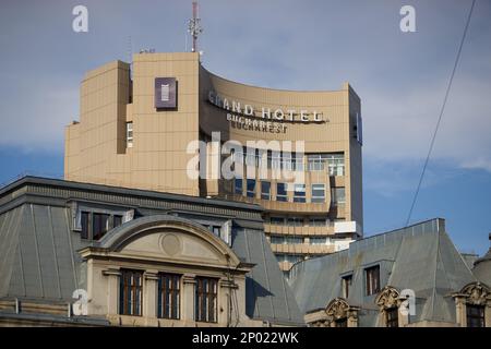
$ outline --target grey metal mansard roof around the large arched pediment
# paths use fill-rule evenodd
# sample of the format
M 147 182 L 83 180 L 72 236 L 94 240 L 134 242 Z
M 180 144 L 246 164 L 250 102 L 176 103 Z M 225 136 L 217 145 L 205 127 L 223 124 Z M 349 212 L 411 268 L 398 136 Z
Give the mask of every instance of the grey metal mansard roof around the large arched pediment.
M 177 207 L 188 213 L 185 219 L 191 222 L 189 214 L 193 210 L 200 217 L 220 217 L 223 210 L 237 217 L 232 250 L 244 262 L 255 264 L 247 276 L 247 314 L 275 324 L 303 325 L 264 231 L 254 229 L 262 227 L 261 209 L 255 205 L 180 197 L 37 178 L 0 190 L 0 298 L 68 302 L 75 289 L 85 288 L 83 260 L 76 251 L 88 243 L 71 229 L 72 200 L 135 204 L 144 215 L 175 212 Z

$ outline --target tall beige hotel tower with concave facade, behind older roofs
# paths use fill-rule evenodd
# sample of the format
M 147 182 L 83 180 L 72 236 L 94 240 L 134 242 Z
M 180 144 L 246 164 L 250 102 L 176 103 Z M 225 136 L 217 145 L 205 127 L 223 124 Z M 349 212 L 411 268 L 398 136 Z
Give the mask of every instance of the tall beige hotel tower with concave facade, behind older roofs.
M 262 88 L 214 75 L 196 52 L 139 53 L 89 71 L 80 98 L 80 121 L 65 130 L 67 180 L 259 204 L 283 270 L 362 236 L 360 98 L 348 84 Z M 243 164 L 243 176 L 216 170 L 227 141 L 240 144 L 232 169 Z M 193 164 L 207 176 L 191 176 Z

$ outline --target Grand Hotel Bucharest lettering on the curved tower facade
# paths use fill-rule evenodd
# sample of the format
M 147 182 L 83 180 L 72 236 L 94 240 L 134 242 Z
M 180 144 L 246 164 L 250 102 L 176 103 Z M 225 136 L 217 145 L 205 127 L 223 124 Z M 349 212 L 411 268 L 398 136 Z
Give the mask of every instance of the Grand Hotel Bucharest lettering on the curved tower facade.
M 288 123 L 326 122 L 322 113 L 315 110 L 258 108 L 249 104 L 227 99 L 214 91 L 208 92 L 208 101 L 227 111 L 227 121 L 236 129 L 285 133 Z

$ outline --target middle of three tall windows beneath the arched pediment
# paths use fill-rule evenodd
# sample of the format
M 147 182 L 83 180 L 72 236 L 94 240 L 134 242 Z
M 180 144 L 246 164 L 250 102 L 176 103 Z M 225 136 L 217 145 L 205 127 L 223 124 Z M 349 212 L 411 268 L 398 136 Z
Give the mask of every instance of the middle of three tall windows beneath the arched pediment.
M 158 276 L 158 317 L 180 318 L 180 281 L 175 274 Z

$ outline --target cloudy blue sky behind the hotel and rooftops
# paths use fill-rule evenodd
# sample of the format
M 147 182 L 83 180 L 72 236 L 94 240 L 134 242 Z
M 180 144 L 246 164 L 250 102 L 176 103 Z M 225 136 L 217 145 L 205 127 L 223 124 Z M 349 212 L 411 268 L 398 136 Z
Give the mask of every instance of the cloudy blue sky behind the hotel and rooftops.
M 203 64 L 247 84 L 338 89 L 362 99 L 366 234 L 402 227 L 428 152 L 470 0 L 202 0 Z M 88 33 L 72 9 L 88 9 Z M 416 33 L 399 9 L 416 9 Z M 1 1 L 0 182 L 61 177 L 63 128 L 89 69 L 143 48 L 183 51 L 191 1 Z M 477 0 L 411 221 L 446 218 L 464 252 L 491 231 L 491 2 Z M 188 49 L 190 40 L 188 39 Z

